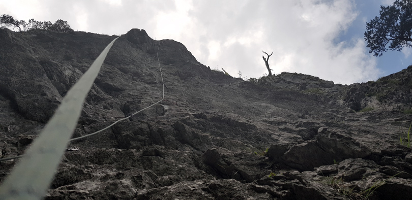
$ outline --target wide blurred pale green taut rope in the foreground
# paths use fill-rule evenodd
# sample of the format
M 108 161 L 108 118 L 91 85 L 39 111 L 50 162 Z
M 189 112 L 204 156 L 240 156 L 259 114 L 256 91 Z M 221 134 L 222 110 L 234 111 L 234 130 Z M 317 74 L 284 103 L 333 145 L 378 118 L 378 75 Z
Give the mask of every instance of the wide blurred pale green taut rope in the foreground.
M 62 103 L 0 186 L 0 199 L 42 199 L 73 135 L 83 103 L 100 72 L 112 40 L 69 89 Z

